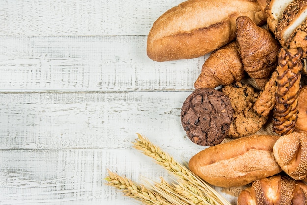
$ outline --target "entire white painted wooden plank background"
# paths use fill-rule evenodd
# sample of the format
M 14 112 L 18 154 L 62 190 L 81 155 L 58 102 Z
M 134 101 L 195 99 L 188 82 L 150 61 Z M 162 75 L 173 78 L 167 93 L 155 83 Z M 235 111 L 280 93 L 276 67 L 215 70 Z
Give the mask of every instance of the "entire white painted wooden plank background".
M 153 22 L 181 2 L 0 0 L 1 205 L 138 204 L 104 180 L 167 177 L 132 148 L 136 132 L 179 162 L 203 149 L 180 110 L 206 56 L 146 55 Z

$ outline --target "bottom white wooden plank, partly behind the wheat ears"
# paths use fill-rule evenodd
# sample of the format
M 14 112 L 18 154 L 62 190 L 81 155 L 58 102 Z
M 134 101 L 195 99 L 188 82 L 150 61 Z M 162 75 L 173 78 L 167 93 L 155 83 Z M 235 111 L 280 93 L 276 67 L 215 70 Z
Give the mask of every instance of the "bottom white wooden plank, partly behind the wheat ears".
M 179 163 L 195 153 L 190 149 L 164 151 Z M 159 182 L 160 177 L 169 180 L 170 176 L 135 149 L 1 150 L 0 155 L 1 205 L 135 205 L 137 201 L 106 186 L 108 169 L 137 183 Z

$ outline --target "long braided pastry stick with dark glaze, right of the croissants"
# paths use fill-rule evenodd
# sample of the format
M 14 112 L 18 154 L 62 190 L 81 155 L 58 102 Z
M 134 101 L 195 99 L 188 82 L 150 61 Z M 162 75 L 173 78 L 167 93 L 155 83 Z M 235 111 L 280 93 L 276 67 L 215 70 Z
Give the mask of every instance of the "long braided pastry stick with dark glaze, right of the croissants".
M 301 48 L 285 50 L 281 48 L 278 56 L 277 91 L 273 108 L 273 131 L 279 135 L 290 134 L 297 119 L 297 97 L 303 51 Z

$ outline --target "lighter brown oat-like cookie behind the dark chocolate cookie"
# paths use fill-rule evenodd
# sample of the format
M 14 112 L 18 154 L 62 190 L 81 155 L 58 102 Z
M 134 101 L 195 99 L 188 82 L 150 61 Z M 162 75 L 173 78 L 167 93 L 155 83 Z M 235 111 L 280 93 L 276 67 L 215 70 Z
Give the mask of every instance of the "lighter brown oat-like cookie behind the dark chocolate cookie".
M 254 134 L 266 123 L 268 117 L 253 109 L 259 92 L 252 86 L 237 82 L 223 87 L 221 91 L 229 97 L 234 110 L 228 137 L 238 138 Z

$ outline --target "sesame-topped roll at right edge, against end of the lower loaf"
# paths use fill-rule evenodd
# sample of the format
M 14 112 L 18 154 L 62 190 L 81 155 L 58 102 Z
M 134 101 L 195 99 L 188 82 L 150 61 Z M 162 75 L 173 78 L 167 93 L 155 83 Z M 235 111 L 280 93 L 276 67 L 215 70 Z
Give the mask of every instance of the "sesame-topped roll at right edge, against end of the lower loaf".
M 280 137 L 273 154 L 281 169 L 295 180 L 307 176 L 307 133 L 292 132 Z

